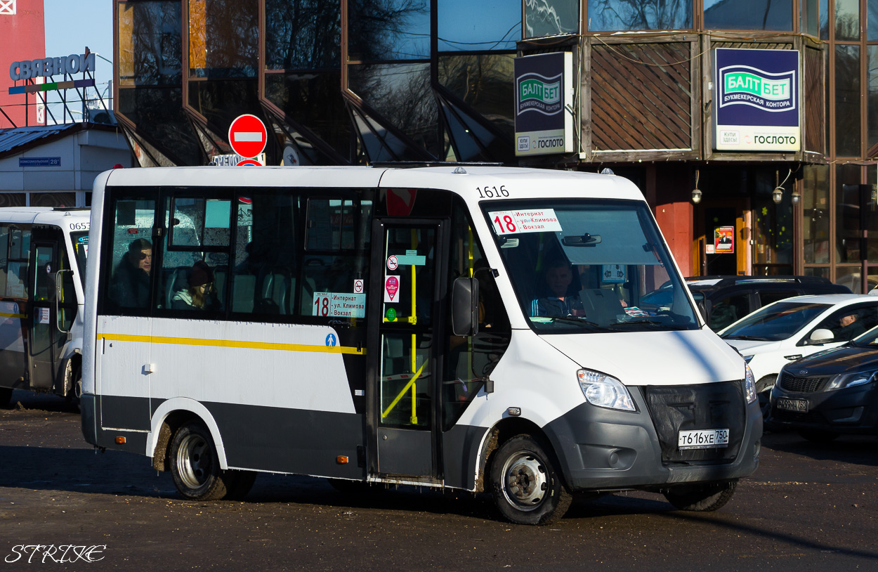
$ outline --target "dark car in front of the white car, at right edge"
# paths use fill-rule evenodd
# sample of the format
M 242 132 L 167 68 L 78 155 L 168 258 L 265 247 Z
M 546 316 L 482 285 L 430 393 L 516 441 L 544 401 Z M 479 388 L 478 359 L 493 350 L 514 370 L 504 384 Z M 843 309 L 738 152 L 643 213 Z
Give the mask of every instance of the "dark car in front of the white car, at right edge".
M 878 328 L 783 366 L 766 424 L 813 441 L 878 434 Z

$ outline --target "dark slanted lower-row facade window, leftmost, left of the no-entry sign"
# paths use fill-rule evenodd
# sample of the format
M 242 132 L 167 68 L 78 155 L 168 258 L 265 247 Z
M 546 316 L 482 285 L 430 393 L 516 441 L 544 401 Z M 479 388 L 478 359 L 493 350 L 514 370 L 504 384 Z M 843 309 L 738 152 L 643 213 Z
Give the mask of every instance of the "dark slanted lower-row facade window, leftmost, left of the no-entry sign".
M 120 89 L 118 105 L 117 111 L 137 126 L 139 135 L 151 145 L 161 144 L 163 155 L 181 165 L 201 163 L 198 141 L 183 111 L 182 88 Z

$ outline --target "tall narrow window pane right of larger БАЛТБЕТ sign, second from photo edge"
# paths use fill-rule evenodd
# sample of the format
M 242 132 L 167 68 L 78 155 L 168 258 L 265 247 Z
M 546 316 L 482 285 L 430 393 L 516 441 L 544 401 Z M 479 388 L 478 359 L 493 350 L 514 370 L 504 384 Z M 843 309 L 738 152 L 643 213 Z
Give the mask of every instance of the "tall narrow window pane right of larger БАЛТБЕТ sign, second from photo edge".
M 860 156 L 860 47 L 835 47 L 835 153 Z

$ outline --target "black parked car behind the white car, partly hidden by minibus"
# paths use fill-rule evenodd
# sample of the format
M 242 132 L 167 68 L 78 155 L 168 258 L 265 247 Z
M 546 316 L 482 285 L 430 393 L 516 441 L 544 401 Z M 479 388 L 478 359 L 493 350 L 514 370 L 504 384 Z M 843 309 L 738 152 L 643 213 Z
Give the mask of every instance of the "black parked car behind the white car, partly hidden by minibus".
M 694 276 L 686 279 L 686 286 L 714 331 L 777 300 L 851 293 L 847 286 L 817 276 Z

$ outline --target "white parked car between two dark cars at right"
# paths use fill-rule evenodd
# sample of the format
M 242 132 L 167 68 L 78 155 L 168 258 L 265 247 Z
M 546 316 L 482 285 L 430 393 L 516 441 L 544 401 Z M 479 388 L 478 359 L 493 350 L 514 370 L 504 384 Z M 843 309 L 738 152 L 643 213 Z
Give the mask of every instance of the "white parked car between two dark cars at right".
M 719 331 L 750 365 L 759 406 L 766 416 L 781 367 L 810 354 L 846 344 L 878 325 L 878 296 L 796 296 L 759 308 Z

